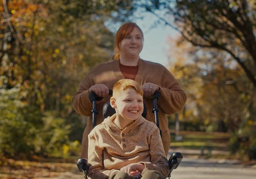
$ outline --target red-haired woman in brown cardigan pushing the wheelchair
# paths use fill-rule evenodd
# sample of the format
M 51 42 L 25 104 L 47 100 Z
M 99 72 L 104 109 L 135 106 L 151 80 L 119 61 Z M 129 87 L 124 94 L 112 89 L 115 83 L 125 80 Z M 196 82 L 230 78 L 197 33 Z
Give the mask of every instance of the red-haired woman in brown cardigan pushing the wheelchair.
M 160 130 L 162 130 L 165 154 L 168 154 L 170 132 L 165 114 L 175 114 L 183 109 L 186 103 L 186 94 L 177 80 L 163 65 L 140 59 L 139 54 L 142 47 L 143 33 L 140 27 L 130 22 L 123 24 L 116 32 L 115 51 L 118 53 L 115 59 L 96 65 L 80 83 L 78 91 L 72 98 L 72 106 L 77 113 L 89 116 L 83 132 L 81 158 L 88 158 L 88 134 L 92 130 L 92 104 L 89 100 L 89 92 L 93 91 L 98 96 L 104 97 L 97 104 L 99 110 L 98 125 L 104 120 L 102 107 L 110 99 L 108 90 L 113 88 L 115 82 L 124 78 L 133 79 L 142 85 L 143 100 L 147 109 L 153 109 L 153 94 L 155 90 L 160 91 L 161 96 L 157 101 L 159 125 Z M 148 112 L 146 119 L 154 122 L 154 114 Z

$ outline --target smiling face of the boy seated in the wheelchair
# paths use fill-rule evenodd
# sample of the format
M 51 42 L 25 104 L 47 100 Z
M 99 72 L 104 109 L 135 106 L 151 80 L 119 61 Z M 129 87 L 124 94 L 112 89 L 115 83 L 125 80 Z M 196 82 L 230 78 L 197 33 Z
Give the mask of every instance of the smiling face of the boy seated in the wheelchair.
M 117 117 L 124 120 L 135 120 L 143 112 L 143 98 L 134 88 L 125 89 L 111 97 L 110 104 L 116 110 Z

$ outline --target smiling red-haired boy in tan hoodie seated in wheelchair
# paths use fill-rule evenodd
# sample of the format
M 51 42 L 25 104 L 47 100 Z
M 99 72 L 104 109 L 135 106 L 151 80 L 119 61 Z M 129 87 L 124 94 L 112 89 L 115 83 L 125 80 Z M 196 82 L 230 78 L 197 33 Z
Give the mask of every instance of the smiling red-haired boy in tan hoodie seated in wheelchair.
M 116 114 L 89 134 L 92 179 L 165 179 L 168 161 L 157 126 L 141 116 L 143 91 L 131 79 L 115 83 L 110 105 Z

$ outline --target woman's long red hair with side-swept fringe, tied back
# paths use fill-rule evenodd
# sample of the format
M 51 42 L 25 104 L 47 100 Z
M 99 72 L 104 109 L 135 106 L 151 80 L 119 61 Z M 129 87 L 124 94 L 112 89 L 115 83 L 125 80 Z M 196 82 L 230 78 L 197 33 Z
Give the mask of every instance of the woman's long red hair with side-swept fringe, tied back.
M 118 53 L 115 55 L 114 59 L 118 59 L 120 57 L 120 54 L 119 54 L 120 42 L 122 41 L 122 39 L 124 39 L 124 37 L 126 35 L 130 34 L 135 27 L 141 31 L 142 39 L 143 39 L 143 32 L 142 32 L 141 28 L 136 23 L 129 22 L 129 23 L 125 23 L 125 24 L 121 25 L 121 27 L 118 29 L 118 31 L 115 34 L 115 49 L 114 50 Z

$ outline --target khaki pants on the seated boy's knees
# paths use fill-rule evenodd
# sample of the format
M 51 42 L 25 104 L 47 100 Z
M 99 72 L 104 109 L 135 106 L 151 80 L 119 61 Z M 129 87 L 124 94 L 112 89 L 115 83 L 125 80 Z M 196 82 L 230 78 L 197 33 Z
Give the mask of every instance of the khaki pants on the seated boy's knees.
M 141 179 L 164 179 L 164 177 L 155 170 L 148 170 L 148 168 L 145 168 L 141 172 Z M 109 176 L 109 179 L 136 179 L 134 176 L 132 176 L 129 173 L 125 173 L 123 171 L 117 171 L 112 173 Z

